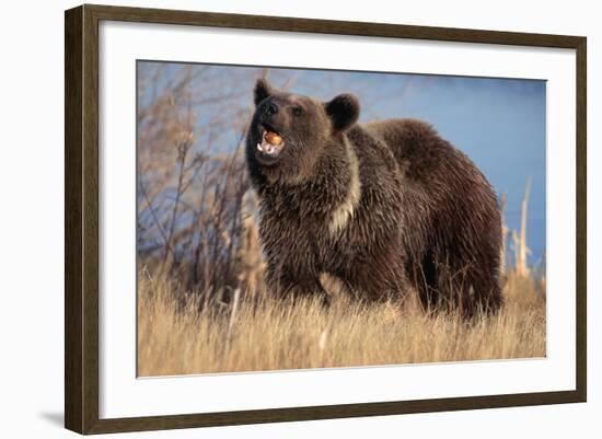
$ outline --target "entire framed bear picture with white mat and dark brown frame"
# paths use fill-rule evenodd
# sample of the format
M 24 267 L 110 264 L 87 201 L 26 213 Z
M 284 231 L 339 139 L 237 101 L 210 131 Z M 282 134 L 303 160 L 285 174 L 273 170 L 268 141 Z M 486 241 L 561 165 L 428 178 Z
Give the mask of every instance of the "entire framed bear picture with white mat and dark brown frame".
M 586 401 L 584 37 L 65 26 L 67 428 Z

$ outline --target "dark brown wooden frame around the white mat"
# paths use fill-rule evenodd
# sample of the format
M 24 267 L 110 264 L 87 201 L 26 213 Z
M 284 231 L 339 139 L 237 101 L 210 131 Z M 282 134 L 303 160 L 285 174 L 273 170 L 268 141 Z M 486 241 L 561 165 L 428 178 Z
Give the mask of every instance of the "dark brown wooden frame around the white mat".
M 99 23 L 101 20 L 575 49 L 577 356 L 574 391 L 99 419 Z M 582 36 L 81 5 L 65 14 L 65 426 L 80 434 L 586 402 L 586 50 Z

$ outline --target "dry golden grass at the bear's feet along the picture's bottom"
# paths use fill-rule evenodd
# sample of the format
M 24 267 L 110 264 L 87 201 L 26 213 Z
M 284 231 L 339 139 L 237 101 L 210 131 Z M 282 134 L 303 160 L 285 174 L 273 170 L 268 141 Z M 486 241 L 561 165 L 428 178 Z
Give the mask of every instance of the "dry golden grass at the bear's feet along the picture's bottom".
M 140 275 L 139 374 L 331 368 L 544 357 L 545 289 L 509 275 L 495 316 L 427 316 L 414 300 L 366 305 L 337 298 L 329 308 L 269 298 L 200 310 L 198 294 Z M 181 299 L 178 299 L 181 298 Z M 182 299 L 183 298 L 183 299 Z M 210 310 L 210 311 L 209 311 Z

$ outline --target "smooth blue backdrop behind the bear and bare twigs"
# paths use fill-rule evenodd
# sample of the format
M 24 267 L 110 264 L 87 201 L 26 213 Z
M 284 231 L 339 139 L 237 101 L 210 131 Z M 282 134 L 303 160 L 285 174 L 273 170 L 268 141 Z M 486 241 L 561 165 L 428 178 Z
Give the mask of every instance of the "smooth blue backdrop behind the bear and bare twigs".
M 157 62 L 140 62 L 140 71 L 157 68 Z M 169 86 L 186 65 L 162 63 Z M 263 73 L 257 67 L 204 66 L 198 81 L 208 94 L 231 93 L 223 106 L 196 105 L 198 125 L 216 112 L 253 111 L 252 90 Z M 348 72 L 270 68 L 268 79 L 300 94 L 328 100 L 339 93 L 356 94 L 362 105 L 360 122 L 374 118 L 412 117 L 430 123 L 439 134 L 463 150 L 478 165 L 498 196 L 506 193 L 507 223 L 518 230 L 520 204 L 525 183 L 531 178 L 528 211 L 528 245 L 532 263 L 545 253 L 545 154 L 546 84 L 539 80 L 422 76 L 403 73 Z M 219 86 L 211 89 L 212 81 Z M 148 99 L 140 96 L 140 102 Z M 233 150 L 240 134 L 225 134 L 218 149 Z M 202 137 L 198 141 L 202 141 Z

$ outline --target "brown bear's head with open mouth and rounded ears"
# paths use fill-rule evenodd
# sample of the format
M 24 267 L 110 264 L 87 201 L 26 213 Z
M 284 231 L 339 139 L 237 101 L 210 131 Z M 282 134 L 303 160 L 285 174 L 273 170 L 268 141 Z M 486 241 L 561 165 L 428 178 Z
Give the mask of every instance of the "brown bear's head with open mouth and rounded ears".
M 316 161 L 340 145 L 341 134 L 359 117 L 359 103 L 351 94 L 322 103 L 275 90 L 264 79 L 255 84 L 254 102 L 246 158 L 252 172 L 271 182 L 310 176 Z

